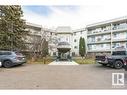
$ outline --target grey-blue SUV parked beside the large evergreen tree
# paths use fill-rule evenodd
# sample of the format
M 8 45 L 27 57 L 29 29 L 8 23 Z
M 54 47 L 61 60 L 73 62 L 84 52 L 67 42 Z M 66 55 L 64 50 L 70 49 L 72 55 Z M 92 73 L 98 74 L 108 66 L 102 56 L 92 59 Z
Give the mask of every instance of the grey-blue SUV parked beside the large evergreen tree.
M 3 67 L 9 68 L 26 63 L 26 58 L 17 51 L 0 51 L 0 62 Z

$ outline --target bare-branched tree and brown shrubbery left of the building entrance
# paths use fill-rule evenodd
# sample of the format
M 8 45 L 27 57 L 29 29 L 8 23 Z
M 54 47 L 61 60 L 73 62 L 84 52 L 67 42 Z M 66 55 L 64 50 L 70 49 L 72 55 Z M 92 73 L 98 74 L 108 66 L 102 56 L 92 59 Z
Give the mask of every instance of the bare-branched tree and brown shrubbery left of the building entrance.
M 29 38 L 32 43 L 28 48 L 32 51 L 33 61 L 39 57 L 46 57 L 48 55 L 48 49 L 53 48 L 49 43 L 57 44 L 57 39 L 50 35 L 51 31 L 41 28 L 40 35 L 31 35 Z

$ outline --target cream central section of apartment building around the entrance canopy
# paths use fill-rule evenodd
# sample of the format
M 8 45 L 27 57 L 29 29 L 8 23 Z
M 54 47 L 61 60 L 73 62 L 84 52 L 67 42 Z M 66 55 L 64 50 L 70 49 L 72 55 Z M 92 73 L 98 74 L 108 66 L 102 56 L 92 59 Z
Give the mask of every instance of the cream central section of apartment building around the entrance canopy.
M 72 30 L 69 26 L 59 26 L 54 30 L 52 33 L 53 38 L 55 38 L 55 44 L 50 45 L 49 44 L 49 53 L 51 56 L 56 55 L 57 53 L 57 45 L 60 42 L 67 42 L 70 44 L 71 50 L 70 54 L 72 56 L 79 56 L 79 39 L 80 37 L 85 37 L 86 30 L 85 29 L 78 29 L 78 30 Z M 54 43 L 53 42 L 53 43 Z M 51 42 L 52 43 L 52 42 Z M 51 47 L 54 46 L 53 49 Z

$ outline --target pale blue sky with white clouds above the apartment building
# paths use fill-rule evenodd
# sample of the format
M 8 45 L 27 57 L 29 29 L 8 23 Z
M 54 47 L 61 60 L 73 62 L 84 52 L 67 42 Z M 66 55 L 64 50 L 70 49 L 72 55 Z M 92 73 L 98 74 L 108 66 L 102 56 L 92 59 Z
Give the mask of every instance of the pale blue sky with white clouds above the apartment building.
M 80 29 L 88 24 L 127 16 L 127 5 L 124 2 L 85 5 L 23 5 L 22 9 L 23 18 L 27 22 L 51 29 L 58 26 Z

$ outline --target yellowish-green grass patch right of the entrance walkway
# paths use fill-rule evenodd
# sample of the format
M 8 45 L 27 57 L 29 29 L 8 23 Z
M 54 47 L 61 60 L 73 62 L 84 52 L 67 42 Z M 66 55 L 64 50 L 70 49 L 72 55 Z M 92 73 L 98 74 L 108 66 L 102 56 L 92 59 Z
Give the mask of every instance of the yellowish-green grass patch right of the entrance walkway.
M 75 62 L 78 64 L 95 64 L 95 59 L 94 58 L 74 58 L 73 59 Z

